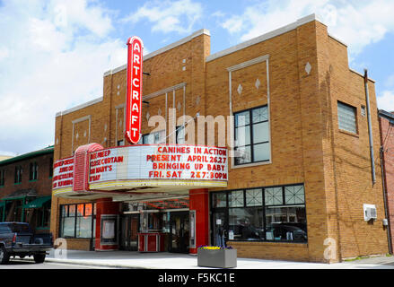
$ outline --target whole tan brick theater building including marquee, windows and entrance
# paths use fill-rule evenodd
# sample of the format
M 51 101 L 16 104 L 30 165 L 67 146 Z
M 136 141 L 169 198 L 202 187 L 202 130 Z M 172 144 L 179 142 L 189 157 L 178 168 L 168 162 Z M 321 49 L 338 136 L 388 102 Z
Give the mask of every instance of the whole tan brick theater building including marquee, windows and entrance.
M 101 98 L 57 113 L 51 230 L 68 248 L 388 252 L 374 82 L 314 14 L 212 55 L 198 30 L 146 55 L 144 72 L 141 144 L 125 140 L 126 65 Z M 165 124 L 148 126 L 155 116 Z

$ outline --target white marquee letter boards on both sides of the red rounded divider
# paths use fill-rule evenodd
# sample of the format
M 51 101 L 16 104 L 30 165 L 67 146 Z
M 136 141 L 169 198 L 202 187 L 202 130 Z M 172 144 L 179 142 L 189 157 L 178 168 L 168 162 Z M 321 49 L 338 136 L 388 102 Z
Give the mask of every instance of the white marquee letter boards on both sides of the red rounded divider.
M 136 144 L 89 152 L 89 159 L 87 184 L 90 190 L 154 187 L 160 191 L 161 187 L 227 186 L 226 148 Z M 73 158 L 69 158 L 55 163 L 54 194 L 74 191 L 73 162 Z

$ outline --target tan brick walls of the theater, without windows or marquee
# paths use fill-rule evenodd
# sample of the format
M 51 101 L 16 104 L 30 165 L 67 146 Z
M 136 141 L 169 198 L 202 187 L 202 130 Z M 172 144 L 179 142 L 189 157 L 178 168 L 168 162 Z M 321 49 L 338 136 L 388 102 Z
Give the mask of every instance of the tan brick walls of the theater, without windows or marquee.
M 377 178 L 372 186 L 367 118 L 361 115 L 366 105 L 363 77 L 349 70 L 346 46 L 330 37 L 324 24 L 299 23 L 275 37 L 211 56 L 206 32 L 175 44 L 144 59 L 144 72 L 151 75 L 144 75 L 149 104 L 143 104 L 142 134 L 153 129 L 147 126 L 147 112 L 150 117 L 161 114 L 168 123 L 170 108 L 177 110 L 177 117 L 194 117 L 197 112 L 227 117 L 268 104 L 271 161 L 241 168 L 230 164 L 227 189 L 297 183 L 305 187 L 308 243 L 232 242 L 239 257 L 336 262 L 388 252 L 381 226 L 384 207 L 374 83 L 369 82 Z M 109 147 L 124 140 L 126 70 L 106 73 L 103 90 L 101 100 L 57 116 L 55 160 L 71 156 L 84 143 Z M 355 107 L 357 134 L 338 129 L 338 100 Z M 210 191 L 216 190 L 222 189 Z M 55 234 L 58 206 L 69 201 L 52 200 Z M 376 205 L 376 222 L 364 222 L 363 204 Z M 336 258 L 324 257 L 326 239 L 336 242 Z M 86 247 L 86 240 L 74 241 L 73 248 Z

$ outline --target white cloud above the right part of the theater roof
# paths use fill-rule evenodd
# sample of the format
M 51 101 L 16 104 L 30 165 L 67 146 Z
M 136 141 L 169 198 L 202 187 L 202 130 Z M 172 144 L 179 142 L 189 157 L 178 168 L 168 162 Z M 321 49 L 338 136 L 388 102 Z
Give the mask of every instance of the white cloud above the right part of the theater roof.
M 316 13 L 328 25 L 328 32 L 343 40 L 350 53 L 356 55 L 368 44 L 394 31 L 393 11 L 392 0 L 268 0 L 232 15 L 222 26 L 232 34 L 241 33 L 241 40 L 245 41 Z

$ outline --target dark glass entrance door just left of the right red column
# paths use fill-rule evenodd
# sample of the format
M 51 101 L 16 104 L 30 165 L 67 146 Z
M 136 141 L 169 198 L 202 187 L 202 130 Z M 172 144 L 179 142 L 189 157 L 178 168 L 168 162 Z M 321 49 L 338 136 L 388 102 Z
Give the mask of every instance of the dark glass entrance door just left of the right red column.
M 188 253 L 190 229 L 188 212 L 171 213 L 170 217 L 169 251 Z

